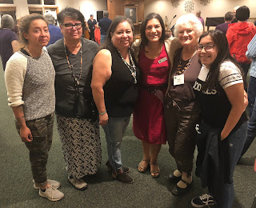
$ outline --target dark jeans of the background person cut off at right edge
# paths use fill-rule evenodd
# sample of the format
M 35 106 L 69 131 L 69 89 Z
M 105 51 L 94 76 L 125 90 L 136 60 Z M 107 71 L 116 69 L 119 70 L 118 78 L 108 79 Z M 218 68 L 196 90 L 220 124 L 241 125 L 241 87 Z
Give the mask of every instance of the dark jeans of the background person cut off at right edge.
M 247 135 L 246 135 L 246 142 L 242 149 L 242 155 L 246 153 L 246 151 L 249 149 L 252 142 L 254 142 L 254 138 L 256 136 L 256 102 L 254 102 L 254 108 L 252 110 L 252 114 L 250 115 L 250 120 L 248 122 L 247 127 Z

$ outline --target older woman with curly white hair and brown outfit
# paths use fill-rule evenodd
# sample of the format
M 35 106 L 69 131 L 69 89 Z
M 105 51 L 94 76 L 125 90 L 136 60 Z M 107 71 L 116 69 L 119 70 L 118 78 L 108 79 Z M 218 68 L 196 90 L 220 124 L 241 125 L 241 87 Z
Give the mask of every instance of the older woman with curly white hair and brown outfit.
M 198 108 L 192 87 L 201 69 L 195 49 L 201 34 L 202 23 L 194 14 L 178 18 L 174 36 L 179 39 L 182 48 L 174 55 L 165 102 L 167 141 L 170 154 L 177 164 L 177 170 L 169 176 L 171 181 L 178 182 L 172 190 L 175 196 L 185 194 L 192 184 L 196 136 L 194 127 L 198 122 Z

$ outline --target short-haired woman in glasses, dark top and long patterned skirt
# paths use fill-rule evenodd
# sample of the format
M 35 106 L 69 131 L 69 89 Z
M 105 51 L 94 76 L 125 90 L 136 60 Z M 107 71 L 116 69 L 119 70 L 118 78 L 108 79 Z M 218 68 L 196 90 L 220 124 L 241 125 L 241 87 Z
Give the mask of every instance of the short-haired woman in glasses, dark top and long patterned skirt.
M 68 181 L 77 190 L 86 190 L 84 176 L 96 174 L 102 149 L 98 120 L 82 114 L 85 91 L 90 92 L 91 68 L 98 51 L 95 42 L 82 38 L 85 18 L 79 10 L 66 7 L 58 13 L 63 37 L 47 47 L 54 64 L 56 119 L 62 142 Z M 85 94 L 92 97 L 91 92 Z M 83 98 L 82 98 L 83 99 Z M 86 103 L 85 103 L 86 105 Z

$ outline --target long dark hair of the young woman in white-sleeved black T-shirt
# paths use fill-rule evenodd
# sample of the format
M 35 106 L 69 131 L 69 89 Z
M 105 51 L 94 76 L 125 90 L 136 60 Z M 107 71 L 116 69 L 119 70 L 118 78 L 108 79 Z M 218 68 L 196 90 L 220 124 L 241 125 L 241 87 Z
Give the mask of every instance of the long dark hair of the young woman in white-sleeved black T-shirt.
M 230 48 L 225 34 L 223 34 L 219 30 L 209 30 L 200 36 L 199 43 L 201 39 L 206 37 L 207 35 L 210 35 L 215 46 L 217 46 L 218 54 L 214 62 L 210 65 L 210 71 L 209 74 L 207 75 L 206 83 L 202 86 L 202 90 L 213 90 L 214 88 L 218 87 L 219 68 L 222 62 L 233 62 L 234 65 L 237 66 L 238 69 L 241 71 L 241 73 L 242 69 L 234 60 L 234 58 L 232 58 L 232 56 L 230 55 Z

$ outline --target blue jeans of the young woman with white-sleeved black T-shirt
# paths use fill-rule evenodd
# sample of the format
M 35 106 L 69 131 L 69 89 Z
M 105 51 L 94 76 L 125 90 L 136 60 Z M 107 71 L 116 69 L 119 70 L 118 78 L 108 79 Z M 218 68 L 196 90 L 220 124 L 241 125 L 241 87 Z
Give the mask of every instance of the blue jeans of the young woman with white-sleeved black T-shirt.
M 234 168 L 240 158 L 242 147 L 246 140 L 247 122 L 244 122 L 238 130 L 233 134 L 230 134 L 227 138 L 230 142 L 230 184 L 224 184 L 224 196 L 225 202 L 219 206 L 220 208 L 231 208 L 234 201 Z

